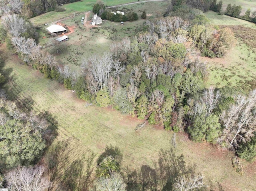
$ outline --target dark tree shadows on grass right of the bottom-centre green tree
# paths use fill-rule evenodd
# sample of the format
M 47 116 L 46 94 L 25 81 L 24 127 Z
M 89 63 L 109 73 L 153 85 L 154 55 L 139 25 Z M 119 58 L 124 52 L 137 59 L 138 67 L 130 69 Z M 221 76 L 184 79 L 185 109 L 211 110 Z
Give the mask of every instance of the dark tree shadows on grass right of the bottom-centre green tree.
M 174 150 L 160 150 L 154 168 L 142 165 L 140 169 L 124 169 L 123 177 L 130 191 L 170 191 L 177 177 L 195 175 L 195 165 L 187 164 L 183 155 Z M 204 190 L 204 189 L 202 189 Z

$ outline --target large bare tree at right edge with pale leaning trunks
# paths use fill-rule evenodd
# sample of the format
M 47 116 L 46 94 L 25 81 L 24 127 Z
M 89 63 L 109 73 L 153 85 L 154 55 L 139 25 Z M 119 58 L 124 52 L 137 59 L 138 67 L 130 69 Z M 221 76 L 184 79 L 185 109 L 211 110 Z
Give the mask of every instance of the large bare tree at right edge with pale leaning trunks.
M 234 97 L 235 104 L 230 106 L 221 115 L 225 129 L 219 142 L 226 142 L 228 148 L 238 147 L 239 142 L 247 142 L 252 136 L 256 127 L 256 89 L 249 95 L 237 95 Z

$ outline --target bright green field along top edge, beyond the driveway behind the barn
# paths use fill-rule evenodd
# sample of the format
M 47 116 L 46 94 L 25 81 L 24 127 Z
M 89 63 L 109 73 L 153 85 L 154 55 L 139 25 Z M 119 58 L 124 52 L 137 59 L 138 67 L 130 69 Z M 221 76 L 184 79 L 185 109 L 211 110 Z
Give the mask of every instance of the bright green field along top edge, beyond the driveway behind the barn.
M 68 16 L 74 15 L 74 11 L 76 14 L 78 14 L 78 13 L 92 10 L 96 1 L 97 0 L 81 0 L 79 2 L 64 4 L 61 7 L 64 8 L 66 11 L 64 12 L 51 11 L 51 12 L 42 14 L 40 16 L 31 18 L 30 21 L 35 26 L 42 26 L 45 23 L 51 24 L 56 20 L 60 20 L 62 18 L 66 18 Z M 143 0 L 140 0 L 140 1 L 143 1 Z M 107 6 L 113 6 L 113 5 L 126 4 L 130 2 L 136 2 L 136 0 L 104 0 L 104 2 L 106 2 Z

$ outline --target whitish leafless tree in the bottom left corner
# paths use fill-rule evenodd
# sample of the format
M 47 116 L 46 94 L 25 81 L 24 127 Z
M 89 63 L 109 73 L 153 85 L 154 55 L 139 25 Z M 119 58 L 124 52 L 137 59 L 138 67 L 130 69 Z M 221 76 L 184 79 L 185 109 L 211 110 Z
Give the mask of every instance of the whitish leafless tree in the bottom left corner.
M 44 191 L 50 182 L 43 177 L 44 167 L 18 167 L 5 174 L 10 191 Z

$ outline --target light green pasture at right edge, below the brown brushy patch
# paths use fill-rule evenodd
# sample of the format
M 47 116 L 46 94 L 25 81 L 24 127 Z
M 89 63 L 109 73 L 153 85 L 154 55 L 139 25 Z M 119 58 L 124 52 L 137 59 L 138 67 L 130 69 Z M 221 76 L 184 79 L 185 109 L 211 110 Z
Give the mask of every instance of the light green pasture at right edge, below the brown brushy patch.
M 256 80 L 256 53 L 245 44 L 238 43 L 224 58 L 208 58 L 207 62 L 210 66 L 208 87 L 231 86 L 249 90 L 254 86 L 250 82 Z

